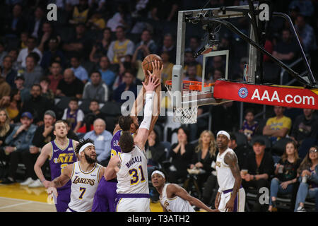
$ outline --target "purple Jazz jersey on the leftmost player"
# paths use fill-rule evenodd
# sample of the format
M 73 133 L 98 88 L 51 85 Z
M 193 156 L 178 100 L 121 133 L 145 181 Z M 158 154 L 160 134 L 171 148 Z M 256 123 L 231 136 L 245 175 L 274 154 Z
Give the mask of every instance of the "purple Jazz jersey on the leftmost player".
M 59 148 L 57 143 L 51 141 L 52 145 L 52 155 L 49 159 L 49 167 L 51 171 L 51 179 L 53 180 L 56 177 L 61 175 L 61 172 L 66 167 L 66 165 L 72 164 L 77 161 L 76 155 L 74 153 L 75 148 L 73 147 L 73 141 L 69 139 L 69 145 L 65 149 Z M 62 186 L 59 189 L 64 189 L 71 186 L 71 181 Z

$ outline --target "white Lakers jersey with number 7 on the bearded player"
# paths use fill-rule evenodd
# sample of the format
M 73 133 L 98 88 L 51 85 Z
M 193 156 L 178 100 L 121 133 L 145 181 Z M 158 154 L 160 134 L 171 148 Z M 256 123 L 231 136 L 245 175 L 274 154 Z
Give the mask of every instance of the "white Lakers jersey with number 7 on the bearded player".
M 100 182 L 99 174 L 102 166 L 95 163 L 90 172 L 83 172 L 78 162 L 73 164 L 71 176 L 71 201 L 69 208 L 76 212 L 86 212 L 92 209 L 93 198 Z

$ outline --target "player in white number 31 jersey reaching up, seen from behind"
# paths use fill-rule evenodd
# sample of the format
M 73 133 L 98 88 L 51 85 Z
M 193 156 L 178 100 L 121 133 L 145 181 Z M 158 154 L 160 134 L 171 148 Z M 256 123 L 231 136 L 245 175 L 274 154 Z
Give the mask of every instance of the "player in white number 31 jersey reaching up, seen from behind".
M 136 136 L 123 131 L 119 138 L 120 155 L 110 159 L 105 170 L 105 179 L 117 177 L 117 212 L 149 212 L 147 159 L 144 145 L 149 135 L 153 115 L 153 91 L 160 85 L 158 78 L 150 75 L 146 90 L 144 117 Z

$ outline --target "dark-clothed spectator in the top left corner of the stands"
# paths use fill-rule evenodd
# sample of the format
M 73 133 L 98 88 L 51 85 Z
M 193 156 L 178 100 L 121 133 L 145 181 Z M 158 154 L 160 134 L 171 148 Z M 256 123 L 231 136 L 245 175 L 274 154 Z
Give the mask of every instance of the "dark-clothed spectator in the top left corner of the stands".
M 6 18 L 4 23 L 4 32 L 7 37 L 19 37 L 20 33 L 25 30 L 25 18 L 23 17 L 23 7 L 15 4 L 12 8 L 12 14 Z

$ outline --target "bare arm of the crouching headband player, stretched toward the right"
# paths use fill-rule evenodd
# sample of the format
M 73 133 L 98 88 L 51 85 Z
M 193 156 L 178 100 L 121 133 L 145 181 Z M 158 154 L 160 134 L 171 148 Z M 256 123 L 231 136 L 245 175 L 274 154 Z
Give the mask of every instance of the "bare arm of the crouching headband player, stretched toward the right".
M 218 212 L 218 210 L 212 210 L 211 208 L 208 208 L 208 206 L 202 203 L 198 198 L 190 196 L 184 188 L 177 184 L 169 184 L 167 186 L 167 194 L 174 194 L 175 196 L 179 196 L 180 198 L 189 201 L 192 206 L 202 208 L 208 212 Z

